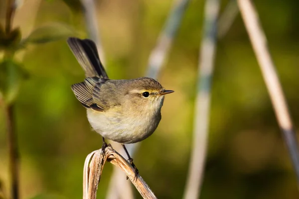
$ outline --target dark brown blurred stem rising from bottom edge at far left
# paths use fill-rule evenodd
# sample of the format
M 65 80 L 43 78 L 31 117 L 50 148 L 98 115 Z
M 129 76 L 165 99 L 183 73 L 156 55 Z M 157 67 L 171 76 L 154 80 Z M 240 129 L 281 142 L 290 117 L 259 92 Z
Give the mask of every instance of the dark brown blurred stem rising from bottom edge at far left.
M 19 153 L 17 148 L 16 134 L 15 134 L 15 121 L 13 108 L 14 105 L 4 106 L 6 116 L 6 130 L 7 141 L 9 150 L 9 168 L 11 178 L 11 198 L 18 199 L 18 184 L 19 184 Z

